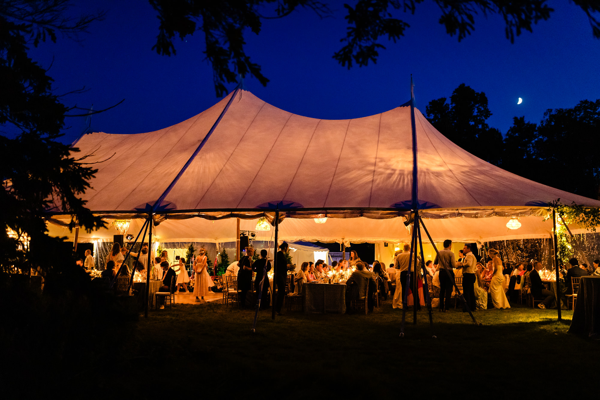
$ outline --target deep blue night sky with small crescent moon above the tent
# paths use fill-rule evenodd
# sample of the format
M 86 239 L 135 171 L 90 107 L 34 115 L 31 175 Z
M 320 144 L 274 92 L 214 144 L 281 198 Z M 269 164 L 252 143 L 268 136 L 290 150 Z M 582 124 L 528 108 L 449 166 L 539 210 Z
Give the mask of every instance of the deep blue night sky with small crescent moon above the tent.
M 55 79 L 68 106 L 115 109 L 95 115 L 92 129 L 107 133 L 140 133 L 179 123 L 218 102 L 212 70 L 203 61 L 202 35 L 175 40 L 176 56 L 151 50 L 158 33 L 155 11 L 145 1 L 81 1 L 74 11 L 107 11 L 79 42 L 58 38 L 43 43 L 31 56 Z M 600 98 L 600 40 L 580 8 L 550 1 L 550 20 L 524 32 L 511 44 L 498 16 L 478 17 L 475 32 L 458 43 L 437 23 L 439 11 L 419 4 L 414 16 L 398 13 L 410 23 L 397 43 L 383 43 L 377 64 L 341 67 L 332 58 L 340 49 L 346 22 L 343 2 L 331 2 L 335 17 L 319 19 L 301 10 L 283 19 L 263 22 L 260 35 L 247 34 L 247 53 L 262 65 L 271 82 L 253 78 L 245 87 L 278 108 L 307 117 L 341 119 L 377 114 L 409 100 L 410 74 L 415 79 L 417 106 L 425 113 L 430 100 L 449 97 L 461 83 L 484 91 L 493 116 L 491 127 L 502 133 L 512 117 L 538 123 L 549 108 L 570 108 L 580 100 Z M 233 88 L 235 85 L 231 85 Z M 518 97 L 523 103 L 517 105 Z M 83 129 L 83 118 L 70 118 L 65 142 Z M 442 132 L 443 133 L 443 132 Z

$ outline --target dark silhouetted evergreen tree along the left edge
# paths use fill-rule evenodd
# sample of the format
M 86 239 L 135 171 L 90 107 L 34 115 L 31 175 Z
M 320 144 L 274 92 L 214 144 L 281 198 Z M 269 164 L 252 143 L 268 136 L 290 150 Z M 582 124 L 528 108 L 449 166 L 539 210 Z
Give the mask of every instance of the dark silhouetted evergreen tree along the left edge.
M 97 170 L 76 159 L 79 151 L 62 144 L 64 118 L 70 110 L 52 91 L 52 78 L 28 56 L 29 46 L 57 35 L 73 37 L 98 16 L 65 17 L 66 0 L 0 2 L 0 270 L 47 270 L 61 240 L 46 235 L 46 213 L 59 207 L 76 225 L 91 231 L 104 226 L 80 195 Z M 71 108 L 72 109 L 72 108 Z M 18 237 L 10 237 L 7 229 Z M 26 237 L 31 238 L 24 246 Z M 33 249 L 35 251 L 29 251 Z M 59 258 L 60 259 L 60 258 Z

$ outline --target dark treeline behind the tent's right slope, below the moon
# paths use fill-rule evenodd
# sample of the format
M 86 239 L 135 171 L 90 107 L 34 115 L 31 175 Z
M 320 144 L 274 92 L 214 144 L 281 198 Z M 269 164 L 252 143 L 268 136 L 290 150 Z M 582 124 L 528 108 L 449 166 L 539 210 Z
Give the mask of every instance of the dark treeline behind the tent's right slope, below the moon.
M 455 144 L 521 177 L 600 199 L 600 99 L 548 109 L 539 123 L 514 117 L 506 135 L 486 123 L 484 92 L 464 83 L 450 98 L 432 100 L 427 118 Z

